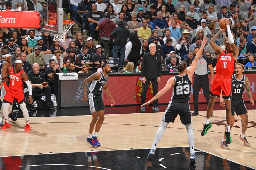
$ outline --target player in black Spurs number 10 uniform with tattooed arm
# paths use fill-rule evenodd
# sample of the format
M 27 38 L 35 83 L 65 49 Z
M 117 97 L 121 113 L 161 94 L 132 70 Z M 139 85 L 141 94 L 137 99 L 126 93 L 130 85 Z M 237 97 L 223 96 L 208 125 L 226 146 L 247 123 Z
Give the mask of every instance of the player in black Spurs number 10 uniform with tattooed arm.
M 233 124 L 235 122 L 235 112 L 237 116 L 241 117 L 242 120 L 242 133 L 239 136 L 239 139 L 244 142 L 245 146 L 251 146 L 251 144 L 247 141 L 245 137 L 245 131 L 247 129 L 248 125 L 248 115 L 247 115 L 247 109 L 244 105 L 243 100 L 243 93 L 244 93 L 244 87 L 246 89 L 246 94 L 250 99 L 250 102 L 252 103 L 252 106 L 254 106 L 254 100 L 252 99 L 252 92 L 250 90 L 250 84 L 249 84 L 249 78 L 243 75 L 244 72 L 244 65 L 243 64 L 236 64 L 236 74 L 232 77 L 232 100 L 231 100 L 231 126 L 230 130 L 233 127 Z M 224 99 L 222 96 L 220 96 L 220 105 L 225 106 Z M 230 147 L 225 143 L 226 136 L 224 135 L 220 146 L 224 149 L 230 149 Z

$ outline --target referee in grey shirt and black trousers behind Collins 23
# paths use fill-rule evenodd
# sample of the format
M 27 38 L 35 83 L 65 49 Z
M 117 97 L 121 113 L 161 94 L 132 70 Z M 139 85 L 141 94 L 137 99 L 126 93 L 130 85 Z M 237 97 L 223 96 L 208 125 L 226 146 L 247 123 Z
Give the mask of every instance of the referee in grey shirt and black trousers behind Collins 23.
M 205 52 L 206 53 L 206 52 Z M 191 62 L 194 60 L 194 58 L 191 60 Z M 208 67 L 210 69 L 210 73 L 212 76 L 212 80 L 214 77 L 213 73 L 213 67 L 211 59 L 205 55 L 203 55 L 196 64 L 196 71 L 194 76 L 194 82 L 193 82 L 193 102 L 194 102 L 194 112 L 191 114 L 191 116 L 198 115 L 198 96 L 201 88 L 204 92 L 204 97 L 206 99 L 206 103 L 209 103 L 210 100 L 210 88 L 209 88 L 209 78 L 208 78 Z M 211 80 L 211 83 L 212 83 Z

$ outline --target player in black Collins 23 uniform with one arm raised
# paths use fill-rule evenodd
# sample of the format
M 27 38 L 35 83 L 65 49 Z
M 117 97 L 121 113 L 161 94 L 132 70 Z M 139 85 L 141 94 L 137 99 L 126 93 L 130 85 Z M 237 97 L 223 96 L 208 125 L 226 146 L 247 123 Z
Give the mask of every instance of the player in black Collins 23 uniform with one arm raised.
M 179 75 L 176 75 L 175 77 L 170 78 L 167 81 L 165 87 L 162 90 L 160 90 L 156 94 L 156 96 L 154 96 L 148 102 L 141 105 L 141 106 L 147 106 L 154 100 L 163 96 L 173 86 L 173 93 L 172 93 L 173 95 L 172 95 L 171 101 L 169 102 L 168 107 L 164 112 L 164 115 L 162 117 L 162 123 L 158 131 L 156 132 L 153 145 L 147 157 L 148 160 L 153 160 L 155 156 L 156 145 L 160 141 L 163 135 L 163 132 L 167 127 L 167 125 L 169 124 L 169 122 L 174 122 L 177 115 L 180 115 L 180 120 L 185 125 L 188 132 L 188 143 L 190 147 L 189 163 L 191 164 L 196 163 L 195 148 L 194 148 L 194 132 L 192 128 L 192 119 L 191 119 L 188 101 L 190 100 L 192 77 L 196 69 L 197 61 L 202 56 L 202 52 L 204 50 L 206 41 L 207 41 L 207 38 L 204 37 L 200 50 L 196 54 L 196 57 L 191 63 L 191 66 L 188 70 L 187 70 L 187 63 L 181 62 L 177 66 Z

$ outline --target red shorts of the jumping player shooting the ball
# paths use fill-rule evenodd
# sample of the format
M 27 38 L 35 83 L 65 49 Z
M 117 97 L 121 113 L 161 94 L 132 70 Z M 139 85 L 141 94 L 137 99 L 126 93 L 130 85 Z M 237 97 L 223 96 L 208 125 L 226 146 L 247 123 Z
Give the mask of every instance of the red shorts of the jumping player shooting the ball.
M 232 77 L 215 74 L 214 79 L 212 81 L 211 96 L 220 97 L 221 90 L 223 99 L 232 99 Z

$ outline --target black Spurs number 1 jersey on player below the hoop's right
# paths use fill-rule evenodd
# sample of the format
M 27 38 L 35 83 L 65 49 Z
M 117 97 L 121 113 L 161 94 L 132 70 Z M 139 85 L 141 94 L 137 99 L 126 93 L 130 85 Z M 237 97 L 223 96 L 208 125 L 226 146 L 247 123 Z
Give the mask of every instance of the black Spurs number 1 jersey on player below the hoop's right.
M 103 86 L 108 81 L 108 75 L 106 77 L 104 77 L 104 74 L 101 71 L 99 73 L 101 74 L 100 80 L 93 80 L 89 87 L 89 91 L 95 95 L 101 96 Z

